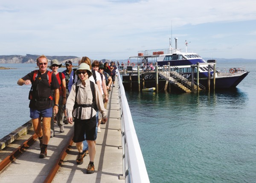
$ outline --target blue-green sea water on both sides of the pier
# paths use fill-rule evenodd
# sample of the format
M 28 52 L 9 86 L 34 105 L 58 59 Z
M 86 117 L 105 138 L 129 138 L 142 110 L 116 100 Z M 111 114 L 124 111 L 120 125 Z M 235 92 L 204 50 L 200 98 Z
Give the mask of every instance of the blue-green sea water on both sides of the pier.
M 217 63 L 250 73 L 235 90 L 170 94 L 126 91 L 152 183 L 256 182 L 256 64 Z M 0 138 L 29 121 L 31 85 L 17 80 L 36 64 L 1 64 Z M 59 71 L 65 68 L 60 68 Z

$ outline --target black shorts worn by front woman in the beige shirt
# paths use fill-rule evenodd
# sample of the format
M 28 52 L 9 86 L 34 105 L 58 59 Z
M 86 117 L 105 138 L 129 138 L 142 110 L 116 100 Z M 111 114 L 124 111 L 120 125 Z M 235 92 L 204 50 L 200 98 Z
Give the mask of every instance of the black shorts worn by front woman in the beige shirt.
M 74 142 L 82 142 L 84 140 L 94 140 L 96 139 L 95 129 L 96 129 L 96 116 L 92 119 L 77 119 L 75 118 L 75 131 L 74 131 Z M 86 139 L 84 139 L 84 133 L 86 134 Z

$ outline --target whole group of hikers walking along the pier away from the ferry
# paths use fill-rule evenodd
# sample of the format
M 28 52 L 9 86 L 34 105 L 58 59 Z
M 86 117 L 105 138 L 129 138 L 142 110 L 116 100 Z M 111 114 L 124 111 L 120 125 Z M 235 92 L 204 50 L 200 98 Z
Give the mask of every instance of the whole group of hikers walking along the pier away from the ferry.
M 119 66 L 119 62 L 117 64 Z M 94 173 L 96 138 L 101 133 L 100 125 L 108 121 L 106 108 L 111 86 L 115 87 L 116 64 L 113 61 L 110 64 L 91 63 L 88 57 L 82 57 L 77 69 L 72 68 L 71 61 L 66 61 L 66 70 L 61 73 L 58 68 L 62 64 L 58 60 L 53 59 L 48 66 L 47 57 L 41 55 L 37 58 L 37 66 L 38 70 L 20 78 L 17 84 L 32 85 L 29 108 L 40 142 L 39 158 L 47 157 L 48 142 L 55 136 L 54 120 L 60 133 L 64 133 L 64 124 L 74 122 L 73 142 L 78 150 L 76 163 L 82 164 L 89 154 L 87 174 Z

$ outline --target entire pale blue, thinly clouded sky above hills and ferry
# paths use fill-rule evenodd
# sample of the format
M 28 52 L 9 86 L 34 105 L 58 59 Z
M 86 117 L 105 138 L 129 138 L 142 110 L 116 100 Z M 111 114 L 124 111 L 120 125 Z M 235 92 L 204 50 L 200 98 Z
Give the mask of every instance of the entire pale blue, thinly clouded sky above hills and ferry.
M 172 47 L 255 59 L 255 0 L 1 0 L 0 55 L 128 59 Z

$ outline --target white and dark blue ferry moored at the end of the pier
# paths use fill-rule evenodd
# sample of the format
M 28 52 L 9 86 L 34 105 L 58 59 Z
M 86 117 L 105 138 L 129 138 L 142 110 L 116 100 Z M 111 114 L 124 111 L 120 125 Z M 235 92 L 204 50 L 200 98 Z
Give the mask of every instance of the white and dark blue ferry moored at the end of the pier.
M 187 52 L 188 42 L 185 42 L 186 52 L 181 52 L 181 49 L 177 49 L 177 38 L 175 38 L 175 49 L 172 48 L 171 44 L 169 49 L 153 49 L 153 50 L 145 50 L 138 52 L 138 55 L 131 56 L 131 58 L 137 58 L 138 65 L 143 66 L 143 71 L 150 71 L 149 66 L 145 66 L 147 63 L 155 64 L 157 62 L 157 66 L 161 69 L 163 67 L 167 67 L 170 64 L 170 67 L 175 68 L 176 72 L 181 74 L 185 78 L 191 78 L 192 74 L 192 65 L 199 64 L 199 83 L 203 85 L 205 88 L 208 86 L 208 66 L 204 63 L 216 62 L 215 60 L 205 61 L 201 58 L 197 53 Z M 131 67 L 131 66 L 130 66 Z M 128 68 L 129 70 L 129 68 Z M 130 69 L 132 70 L 132 69 Z M 195 79 L 196 76 L 195 69 Z M 143 73 L 143 72 L 141 72 Z M 215 89 L 227 89 L 227 88 L 235 88 L 247 75 L 248 71 L 244 69 L 244 67 L 239 68 L 228 68 L 226 70 L 215 70 Z M 147 73 L 150 75 L 150 73 Z M 146 75 L 147 75 L 146 74 Z M 152 73 L 153 74 L 153 73 Z M 210 80 L 211 87 L 213 88 L 213 74 L 214 67 L 210 66 Z M 149 78 L 149 76 L 146 76 Z M 133 74 L 133 76 L 123 75 L 123 84 L 127 85 L 129 79 L 136 81 L 137 75 Z M 153 77 L 151 77 L 153 78 Z M 155 78 L 155 76 L 154 76 Z M 154 78 L 152 79 L 154 81 Z M 146 78 L 143 78 L 146 79 Z M 159 78 L 159 84 L 164 81 L 163 78 Z M 195 80 L 196 81 L 196 80 Z M 155 87 L 154 84 L 148 84 L 147 87 Z

